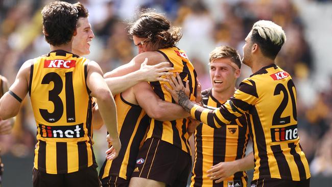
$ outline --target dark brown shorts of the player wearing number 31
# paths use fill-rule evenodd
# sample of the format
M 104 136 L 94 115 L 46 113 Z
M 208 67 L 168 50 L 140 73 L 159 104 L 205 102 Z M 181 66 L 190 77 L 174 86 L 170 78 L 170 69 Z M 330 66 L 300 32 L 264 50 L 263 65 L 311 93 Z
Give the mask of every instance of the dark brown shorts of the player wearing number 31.
M 94 166 L 67 174 L 48 174 L 33 168 L 32 182 L 34 187 L 101 186 L 97 169 Z

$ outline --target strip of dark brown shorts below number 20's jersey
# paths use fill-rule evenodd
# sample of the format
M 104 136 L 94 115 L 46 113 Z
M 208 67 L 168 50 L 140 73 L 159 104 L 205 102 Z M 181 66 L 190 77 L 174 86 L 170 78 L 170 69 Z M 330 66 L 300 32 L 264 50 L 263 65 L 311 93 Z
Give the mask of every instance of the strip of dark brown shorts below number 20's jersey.
M 264 178 L 251 181 L 251 187 L 309 187 L 310 178 L 300 181 L 288 180 L 288 179 L 278 179 L 278 178 Z

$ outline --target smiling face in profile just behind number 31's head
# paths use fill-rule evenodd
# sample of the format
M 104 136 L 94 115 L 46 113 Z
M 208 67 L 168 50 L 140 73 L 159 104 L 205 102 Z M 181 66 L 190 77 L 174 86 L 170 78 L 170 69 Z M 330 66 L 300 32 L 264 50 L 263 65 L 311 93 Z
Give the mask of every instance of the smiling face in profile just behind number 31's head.
M 90 42 L 94 38 L 91 25 L 87 17 L 80 17 L 77 21 L 77 35 L 73 39 L 73 53 L 79 56 L 90 54 Z

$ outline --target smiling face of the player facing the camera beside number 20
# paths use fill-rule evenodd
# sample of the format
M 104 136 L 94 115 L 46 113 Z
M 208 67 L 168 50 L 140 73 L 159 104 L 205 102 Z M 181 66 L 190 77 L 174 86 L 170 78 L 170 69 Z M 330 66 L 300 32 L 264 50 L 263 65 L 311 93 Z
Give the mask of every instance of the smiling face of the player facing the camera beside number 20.
M 240 70 L 235 70 L 229 63 L 231 63 L 229 58 L 219 58 L 210 64 L 210 78 L 216 92 L 221 93 L 235 87 Z

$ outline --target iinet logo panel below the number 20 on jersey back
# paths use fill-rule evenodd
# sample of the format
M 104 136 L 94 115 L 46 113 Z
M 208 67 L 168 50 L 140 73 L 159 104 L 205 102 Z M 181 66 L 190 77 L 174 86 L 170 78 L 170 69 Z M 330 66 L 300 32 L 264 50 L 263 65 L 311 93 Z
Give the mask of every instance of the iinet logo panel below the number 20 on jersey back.
M 297 138 L 297 125 L 271 129 L 272 142 L 288 141 Z

